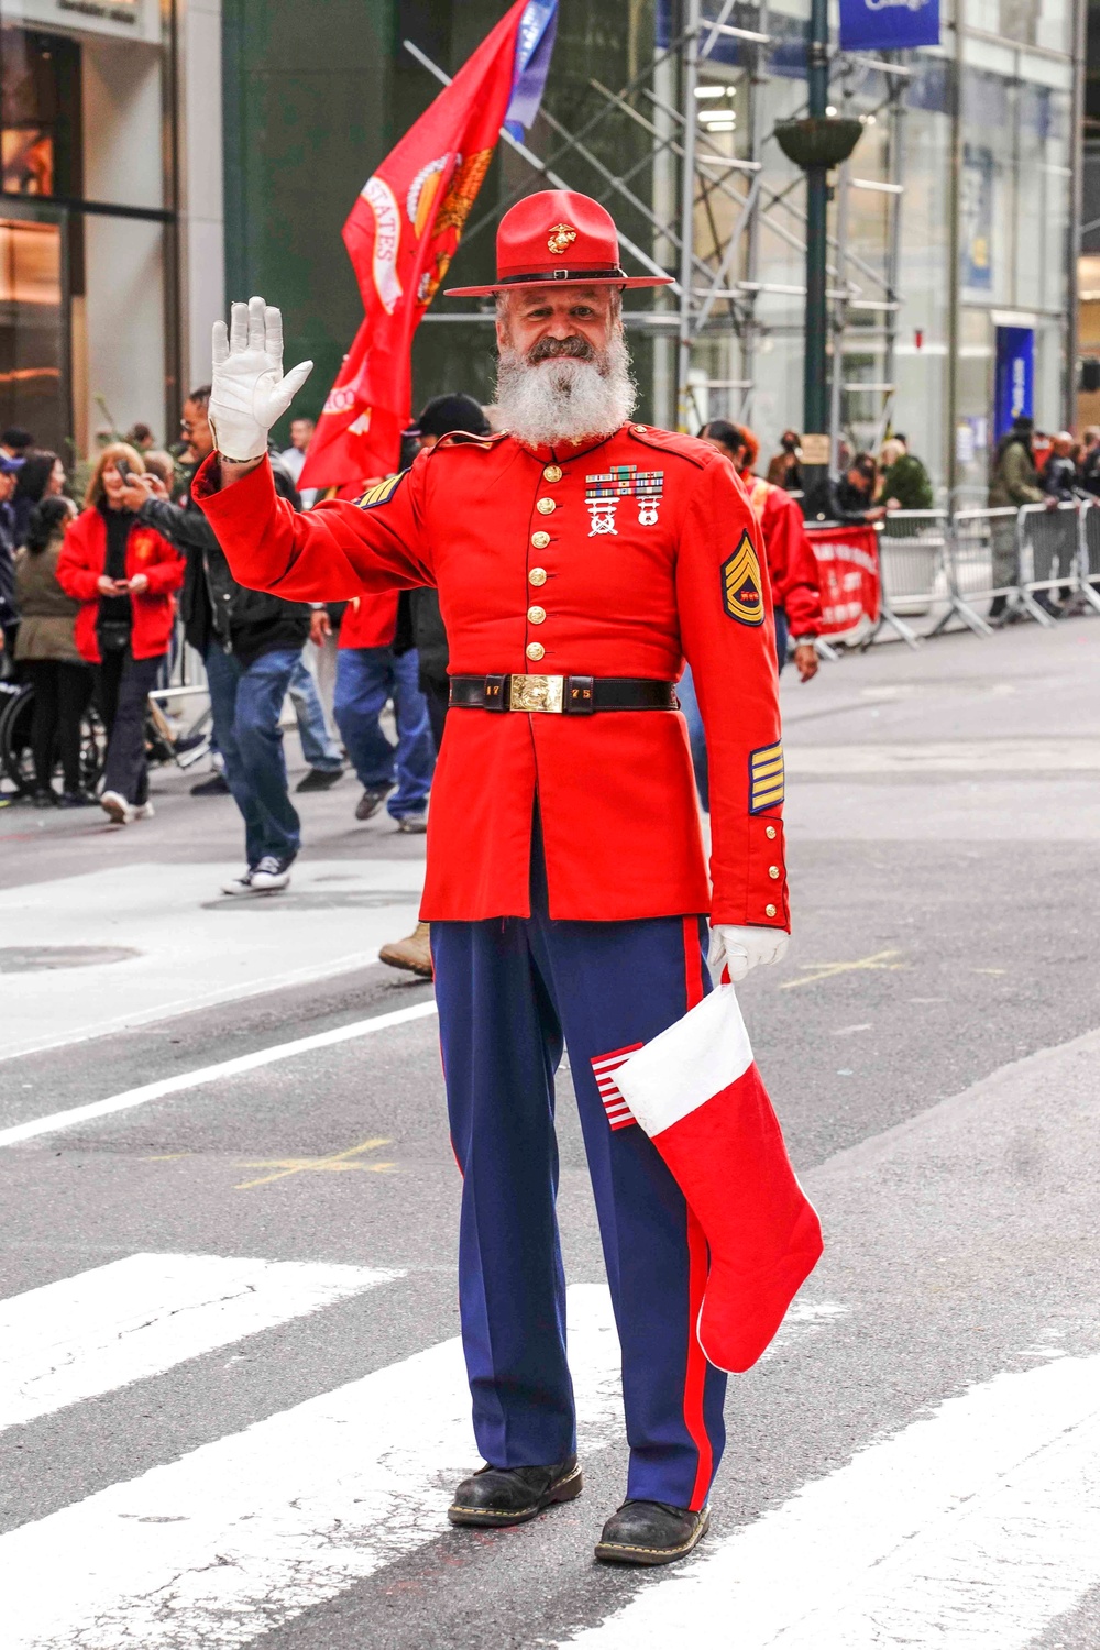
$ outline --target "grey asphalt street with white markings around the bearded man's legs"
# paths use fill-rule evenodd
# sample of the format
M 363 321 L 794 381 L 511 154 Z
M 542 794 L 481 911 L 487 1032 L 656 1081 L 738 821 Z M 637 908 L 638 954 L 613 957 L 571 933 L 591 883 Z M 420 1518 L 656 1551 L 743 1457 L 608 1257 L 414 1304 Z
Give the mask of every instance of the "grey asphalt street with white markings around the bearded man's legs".
M 345 777 L 242 906 L 193 774 L 124 830 L 0 812 L 3 1650 L 1095 1650 L 1100 624 L 783 700 L 795 936 L 740 997 L 826 1256 L 648 1576 L 592 1563 L 625 1442 L 567 1063 L 585 1490 L 445 1525 L 458 1176 L 430 987 L 371 960 L 422 838 Z

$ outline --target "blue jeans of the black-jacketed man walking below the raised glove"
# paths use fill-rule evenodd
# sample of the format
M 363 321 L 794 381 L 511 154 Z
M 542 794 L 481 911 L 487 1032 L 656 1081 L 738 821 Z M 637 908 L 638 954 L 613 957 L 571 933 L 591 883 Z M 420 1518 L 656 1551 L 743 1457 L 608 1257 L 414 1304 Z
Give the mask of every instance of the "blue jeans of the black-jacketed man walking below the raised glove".
M 266 853 L 294 860 L 302 846 L 279 726 L 299 657 L 297 648 L 275 648 L 246 670 L 236 653 L 224 653 L 218 644 L 206 650 L 214 739 L 226 764 L 226 784 L 244 817 L 249 865 L 259 865 Z

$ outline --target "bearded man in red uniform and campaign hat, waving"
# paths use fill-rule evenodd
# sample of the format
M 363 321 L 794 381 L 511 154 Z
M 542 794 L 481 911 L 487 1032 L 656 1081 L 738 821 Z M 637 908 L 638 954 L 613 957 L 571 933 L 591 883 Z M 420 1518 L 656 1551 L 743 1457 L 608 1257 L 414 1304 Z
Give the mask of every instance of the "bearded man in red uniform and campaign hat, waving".
M 338 601 L 432 584 L 452 711 L 421 916 L 432 924 L 460 1307 L 487 1465 L 450 1518 L 501 1526 L 581 1490 L 554 1195 L 554 1069 L 571 1069 L 623 1356 L 627 1500 L 597 1556 L 663 1564 L 707 1528 L 726 1378 L 694 1325 L 706 1242 L 610 1072 L 787 945 L 772 606 L 755 518 L 712 447 L 630 422 L 618 239 L 595 201 L 529 196 L 496 243 L 508 434 L 454 434 L 356 505 L 294 515 L 266 431 L 282 378 L 262 299 L 214 332 L 219 457 L 198 480 L 237 578 Z M 470 290 L 470 289 L 467 289 Z M 711 879 L 675 683 L 711 744 Z M 711 889 L 712 883 L 712 889 Z M 625 1120 L 628 1122 L 628 1119 Z

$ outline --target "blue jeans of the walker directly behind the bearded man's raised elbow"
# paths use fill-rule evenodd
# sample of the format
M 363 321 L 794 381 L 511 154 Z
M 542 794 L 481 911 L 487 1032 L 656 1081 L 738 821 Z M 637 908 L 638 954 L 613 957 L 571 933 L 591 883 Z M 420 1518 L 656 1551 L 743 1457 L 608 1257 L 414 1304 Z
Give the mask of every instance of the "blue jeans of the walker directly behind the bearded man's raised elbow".
M 419 676 L 416 648 L 401 657 L 391 647 L 341 647 L 336 653 L 333 714 L 348 759 L 366 790 L 396 785 L 386 799 L 396 820 L 424 812 L 435 769 L 435 741 Z M 396 747 L 378 719 L 388 700 L 394 701 Z

